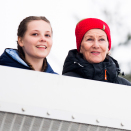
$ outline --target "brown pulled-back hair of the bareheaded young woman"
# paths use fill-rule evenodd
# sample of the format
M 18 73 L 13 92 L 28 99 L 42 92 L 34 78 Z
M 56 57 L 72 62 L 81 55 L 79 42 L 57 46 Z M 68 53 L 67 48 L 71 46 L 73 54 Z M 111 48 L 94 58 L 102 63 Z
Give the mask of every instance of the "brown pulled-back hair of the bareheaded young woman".
M 31 21 L 34 21 L 34 20 L 43 20 L 43 21 L 50 24 L 50 21 L 44 16 L 29 16 L 29 17 L 26 17 L 25 19 L 23 19 L 20 22 L 20 25 L 19 25 L 18 31 L 17 31 L 17 36 L 21 37 L 21 38 L 24 37 L 25 32 L 27 31 L 28 23 L 31 22 Z M 51 31 L 52 31 L 52 28 L 51 28 Z M 30 68 L 32 70 L 34 70 L 32 65 L 30 63 L 28 63 L 28 61 L 25 59 L 25 53 L 24 53 L 22 47 L 19 45 L 18 41 L 17 41 L 17 49 L 18 49 L 19 56 L 30 66 Z M 44 62 L 43 62 L 42 71 L 44 71 L 46 69 L 46 67 L 47 67 L 47 61 L 45 59 Z

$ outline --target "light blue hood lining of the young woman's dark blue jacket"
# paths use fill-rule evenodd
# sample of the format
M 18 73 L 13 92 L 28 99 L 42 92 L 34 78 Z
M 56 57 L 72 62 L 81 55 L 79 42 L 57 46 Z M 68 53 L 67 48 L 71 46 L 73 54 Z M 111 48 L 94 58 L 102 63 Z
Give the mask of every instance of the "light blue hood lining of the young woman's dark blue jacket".
M 19 63 L 29 67 L 18 55 L 18 51 L 14 49 L 6 49 L 5 50 L 14 60 L 18 61 Z

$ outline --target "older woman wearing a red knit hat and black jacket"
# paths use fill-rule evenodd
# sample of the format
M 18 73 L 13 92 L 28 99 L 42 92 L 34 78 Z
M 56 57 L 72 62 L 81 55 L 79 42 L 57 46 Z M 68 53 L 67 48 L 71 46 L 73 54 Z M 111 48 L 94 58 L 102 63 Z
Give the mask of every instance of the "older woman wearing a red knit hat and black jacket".
M 119 77 L 117 61 L 109 56 L 111 35 L 109 26 L 102 20 L 81 20 L 75 29 L 77 49 L 70 50 L 63 66 L 63 75 L 131 85 Z

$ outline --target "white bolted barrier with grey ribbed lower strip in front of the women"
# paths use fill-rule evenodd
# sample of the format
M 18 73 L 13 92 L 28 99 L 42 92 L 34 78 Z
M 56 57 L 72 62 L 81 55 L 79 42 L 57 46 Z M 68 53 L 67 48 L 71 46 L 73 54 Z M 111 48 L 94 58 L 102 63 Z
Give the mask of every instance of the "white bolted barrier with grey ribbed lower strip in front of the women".
M 0 131 L 131 130 L 131 87 L 0 66 Z

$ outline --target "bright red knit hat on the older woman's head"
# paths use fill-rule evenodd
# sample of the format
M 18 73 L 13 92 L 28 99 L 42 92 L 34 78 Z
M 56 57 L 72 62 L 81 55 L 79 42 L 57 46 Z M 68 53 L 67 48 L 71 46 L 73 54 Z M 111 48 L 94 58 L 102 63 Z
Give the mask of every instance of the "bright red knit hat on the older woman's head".
M 109 26 L 102 20 L 97 18 L 87 18 L 78 22 L 75 28 L 76 35 L 76 45 L 78 52 L 80 51 L 80 45 L 82 39 L 87 31 L 90 29 L 102 29 L 105 31 L 108 41 L 109 41 L 109 50 L 111 49 L 111 35 Z

